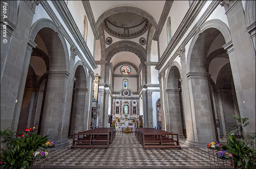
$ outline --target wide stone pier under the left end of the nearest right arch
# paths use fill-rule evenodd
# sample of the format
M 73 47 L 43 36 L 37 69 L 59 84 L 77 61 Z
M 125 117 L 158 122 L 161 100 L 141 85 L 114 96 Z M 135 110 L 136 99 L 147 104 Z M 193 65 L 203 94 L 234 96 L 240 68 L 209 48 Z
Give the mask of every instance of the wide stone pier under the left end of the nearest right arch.
M 194 141 L 196 146 L 201 147 L 216 140 L 208 87 L 209 73 L 188 73 L 187 77 L 191 113 L 194 114 L 195 121 L 193 123 L 196 126 Z

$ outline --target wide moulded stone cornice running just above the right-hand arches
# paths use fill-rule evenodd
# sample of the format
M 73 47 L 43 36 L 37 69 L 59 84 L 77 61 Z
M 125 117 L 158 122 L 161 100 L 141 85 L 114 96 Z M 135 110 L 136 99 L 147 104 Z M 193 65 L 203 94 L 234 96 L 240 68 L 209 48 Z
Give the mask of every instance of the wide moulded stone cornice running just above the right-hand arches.
M 202 2 L 203 3 L 203 2 Z M 194 2 L 192 3 L 194 4 Z M 205 2 L 201 5 L 201 8 L 204 6 Z M 212 1 L 211 4 L 208 6 L 208 8 L 204 11 L 203 15 L 200 17 L 200 19 L 198 20 L 198 22 L 196 22 L 196 24 L 194 25 L 194 27 L 192 28 L 192 30 L 189 32 L 188 36 L 185 37 L 185 39 L 183 40 L 183 42 L 181 43 L 180 46 L 185 46 L 189 40 L 194 36 L 194 34 L 196 33 L 196 31 L 200 31 L 199 27 L 207 20 L 207 18 L 211 15 L 211 13 L 218 7 L 219 5 L 219 2 L 218 1 Z M 198 7 L 200 8 L 200 7 Z M 200 8 L 200 10 L 201 10 Z M 200 10 L 198 11 L 198 13 L 200 12 Z M 198 13 L 196 15 L 198 15 Z M 191 24 L 190 24 L 191 25 Z M 188 27 L 190 26 L 188 25 Z M 181 25 L 179 26 L 181 27 Z M 179 30 L 179 33 L 182 32 L 182 30 Z M 178 31 L 177 30 L 177 31 Z M 186 29 L 187 30 L 187 29 Z M 185 34 L 185 32 L 183 32 L 182 34 L 179 34 L 176 36 L 176 33 L 175 35 L 173 36 L 172 40 L 175 41 L 175 39 L 180 36 L 180 39 L 182 38 L 182 36 Z M 171 43 L 172 43 L 172 40 L 171 40 Z M 174 48 L 176 47 L 177 43 L 180 41 L 180 40 L 177 40 L 177 42 L 173 42 L 174 46 L 171 46 L 171 43 L 167 46 L 167 48 L 165 49 L 165 51 L 168 52 L 163 56 L 161 57 L 161 59 L 159 60 L 158 64 L 156 65 L 156 69 L 157 70 L 160 70 L 164 63 L 167 62 L 167 64 L 164 66 L 164 68 L 162 69 L 161 72 L 165 71 L 169 66 L 170 64 L 173 62 L 173 60 L 176 58 L 176 56 L 178 55 L 178 51 L 180 48 L 177 48 L 177 50 L 175 51 L 175 53 L 171 56 L 171 58 L 167 61 L 168 59 L 168 56 L 171 55 L 172 51 L 174 50 Z M 164 58 L 165 57 L 165 58 Z M 161 62 L 161 63 L 160 63 Z

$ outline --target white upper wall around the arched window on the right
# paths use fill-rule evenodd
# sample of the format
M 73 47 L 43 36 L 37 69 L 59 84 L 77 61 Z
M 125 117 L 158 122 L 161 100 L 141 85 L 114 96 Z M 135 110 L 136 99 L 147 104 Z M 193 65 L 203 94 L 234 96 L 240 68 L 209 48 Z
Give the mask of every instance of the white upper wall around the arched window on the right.
M 186 12 L 189 10 L 189 1 L 174 1 L 172 4 L 172 8 L 168 14 L 167 19 L 169 16 L 171 17 L 171 25 L 172 25 L 172 36 L 174 36 L 176 30 L 180 26 L 181 21 L 183 20 L 184 16 L 186 15 Z M 160 57 L 162 57 L 164 50 L 167 47 L 167 30 L 166 30 L 166 24 L 167 19 L 165 21 L 165 24 L 163 26 L 163 30 L 159 36 L 159 52 Z

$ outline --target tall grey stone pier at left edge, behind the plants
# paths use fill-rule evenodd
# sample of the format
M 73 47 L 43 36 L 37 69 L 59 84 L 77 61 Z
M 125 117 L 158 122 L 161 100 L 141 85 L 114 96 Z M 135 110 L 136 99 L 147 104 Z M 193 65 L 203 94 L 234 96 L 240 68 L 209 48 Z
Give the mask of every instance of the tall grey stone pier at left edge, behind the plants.
M 36 46 L 35 43 L 28 46 L 28 39 L 38 4 L 35 1 L 20 1 L 17 25 L 10 38 L 9 46 L 1 43 L 1 48 L 2 46 L 8 48 L 1 65 L 1 129 L 4 130 L 11 127 L 12 131 L 17 131 L 31 49 Z

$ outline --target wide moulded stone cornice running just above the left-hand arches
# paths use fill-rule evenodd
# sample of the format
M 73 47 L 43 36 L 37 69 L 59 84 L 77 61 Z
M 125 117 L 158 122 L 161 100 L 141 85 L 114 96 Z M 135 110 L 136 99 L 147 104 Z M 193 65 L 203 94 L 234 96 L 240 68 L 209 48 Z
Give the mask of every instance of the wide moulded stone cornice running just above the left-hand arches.
M 55 9 L 58 11 L 58 13 L 60 14 L 61 18 L 63 19 L 65 25 L 67 26 L 68 30 L 71 32 L 71 35 L 74 37 L 76 43 L 78 44 L 78 46 L 80 47 L 80 49 L 82 50 L 84 56 L 88 59 L 89 63 L 91 64 L 93 69 L 96 69 L 98 66 L 94 61 L 94 58 L 88 48 L 88 46 L 86 45 L 70 11 L 68 10 L 66 4 L 64 1 L 52 1 Z M 49 6 L 47 1 L 42 1 L 41 2 L 42 6 L 45 8 L 46 12 L 48 13 L 48 15 L 53 19 L 53 21 L 60 27 L 60 29 L 62 30 L 64 36 L 67 38 L 68 42 L 70 44 L 73 44 L 73 40 L 71 39 L 71 37 L 68 35 L 67 31 L 64 29 L 64 27 L 62 26 L 60 20 L 58 20 L 56 14 L 53 12 L 53 10 L 51 9 L 51 7 Z M 74 45 L 74 44 L 73 44 Z M 75 46 L 75 45 L 74 45 Z M 79 54 L 80 51 L 78 51 Z M 91 69 L 88 65 L 88 63 L 86 62 L 86 60 L 82 57 L 80 57 L 80 59 L 86 64 L 86 66 L 88 66 L 88 69 Z

